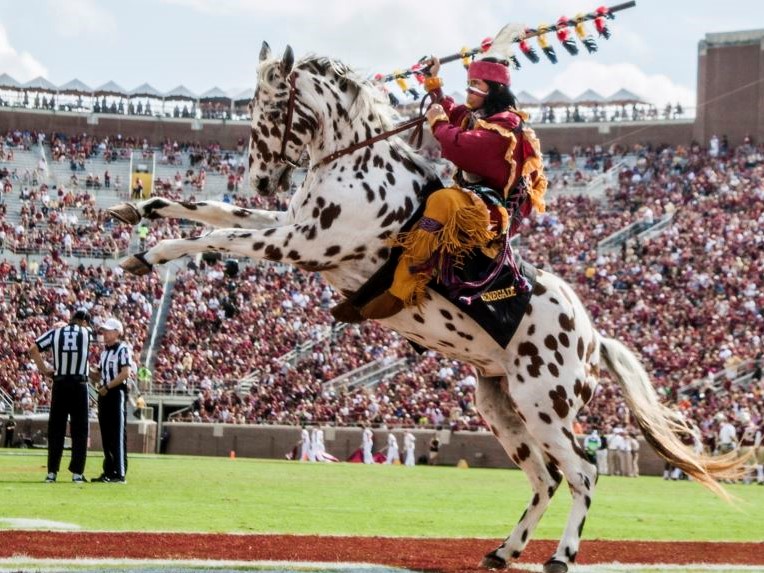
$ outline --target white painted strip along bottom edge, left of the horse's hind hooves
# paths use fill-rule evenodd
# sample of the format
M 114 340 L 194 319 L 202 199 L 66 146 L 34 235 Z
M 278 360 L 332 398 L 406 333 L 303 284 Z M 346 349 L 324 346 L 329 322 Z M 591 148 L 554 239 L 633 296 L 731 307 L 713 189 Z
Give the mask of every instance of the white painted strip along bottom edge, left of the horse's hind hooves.
M 178 571 L 179 568 L 205 570 L 242 570 L 242 571 L 352 571 L 363 573 L 413 573 L 408 569 L 378 565 L 375 563 L 334 563 L 321 561 L 235 561 L 216 559 L 123 559 L 92 558 L 81 559 L 30 559 L 28 557 L 10 557 L 0 559 L 0 573 L 16 573 L 19 568 L 32 568 L 35 571 L 93 571 L 103 567 L 130 569 L 146 568 L 153 570 Z M 22 569 L 23 571 L 24 569 Z

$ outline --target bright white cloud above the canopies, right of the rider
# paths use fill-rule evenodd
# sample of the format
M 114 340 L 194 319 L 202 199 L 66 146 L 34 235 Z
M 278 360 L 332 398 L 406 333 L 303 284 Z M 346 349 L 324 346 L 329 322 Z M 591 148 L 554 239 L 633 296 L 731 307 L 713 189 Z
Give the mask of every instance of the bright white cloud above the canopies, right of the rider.
M 629 63 L 601 64 L 594 61 L 570 63 L 557 74 L 543 97 L 554 89 L 559 89 L 571 97 L 576 97 L 587 89 L 607 97 L 621 88 L 642 96 L 658 107 L 666 103 L 681 103 L 685 107 L 695 106 L 695 91 L 687 86 L 674 83 L 663 74 L 649 75 L 638 66 Z

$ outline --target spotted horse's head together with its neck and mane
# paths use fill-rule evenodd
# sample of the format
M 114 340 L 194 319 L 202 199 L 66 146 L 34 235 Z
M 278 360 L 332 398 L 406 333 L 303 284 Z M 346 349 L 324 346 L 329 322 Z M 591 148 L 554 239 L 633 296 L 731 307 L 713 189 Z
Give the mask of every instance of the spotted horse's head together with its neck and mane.
M 315 56 L 295 64 L 289 46 L 271 58 L 267 42 L 250 113 L 250 183 L 263 195 L 289 185 L 306 150 L 316 160 L 391 125 L 387 102 L 350 68 Z

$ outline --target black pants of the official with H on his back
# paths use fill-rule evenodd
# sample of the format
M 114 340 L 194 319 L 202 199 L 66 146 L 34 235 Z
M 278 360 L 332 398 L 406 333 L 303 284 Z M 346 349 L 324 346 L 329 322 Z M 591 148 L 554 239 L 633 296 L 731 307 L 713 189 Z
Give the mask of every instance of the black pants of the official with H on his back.
M 84 376 L 56 376 L 48 417 L 48 472 L 58 473 L 64 452 L 66 420 L 72 434 L 72 460 L 69 471 L 85 471 L 88 454 L 88 385 Z

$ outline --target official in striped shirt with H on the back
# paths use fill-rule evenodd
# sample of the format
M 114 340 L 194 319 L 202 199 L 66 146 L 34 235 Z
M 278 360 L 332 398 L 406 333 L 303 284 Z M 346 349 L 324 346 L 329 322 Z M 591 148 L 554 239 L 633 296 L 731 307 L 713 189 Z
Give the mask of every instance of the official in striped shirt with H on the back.
M 88 451 L 88 351 L 93 343 L 89 328 L 90 314 L 77 310 L 66 326 L 54 328 L 40 336 L 29 354 L 43 376 L 53 376 L 53 392 L 48 416 L 48 475 L 45 481 L 56 481 L 64 451 L 66 420 L 72 434 L 72 459 L 69 471 L 72 481 L 87 481 L 83 475 Z M 53 368 L 43 360 L 41 352 L 50 350 Z

